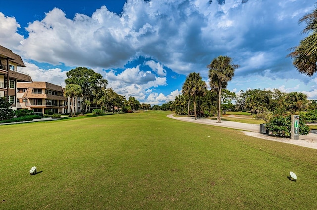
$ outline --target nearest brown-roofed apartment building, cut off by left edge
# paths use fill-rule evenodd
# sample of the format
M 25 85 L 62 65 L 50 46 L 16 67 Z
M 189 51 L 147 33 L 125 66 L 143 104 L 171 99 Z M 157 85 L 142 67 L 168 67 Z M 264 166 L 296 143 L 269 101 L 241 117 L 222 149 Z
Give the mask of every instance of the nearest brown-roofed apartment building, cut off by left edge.
M 0 95 L 6 97 L 12 109 L 17 109 L 17 82 L 32 82 L 31 77 L 17 70 L 25 67 L 21 57 L 0 45 Z

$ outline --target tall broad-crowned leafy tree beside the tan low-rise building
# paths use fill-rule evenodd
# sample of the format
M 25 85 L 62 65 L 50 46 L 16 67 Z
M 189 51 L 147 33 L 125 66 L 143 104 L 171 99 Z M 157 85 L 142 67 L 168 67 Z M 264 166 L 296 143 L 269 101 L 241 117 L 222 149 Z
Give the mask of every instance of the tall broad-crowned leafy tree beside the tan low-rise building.
M 91 96 L 91 98 L 96 95 L 96 93 L 102 88 L 106 87 L 108 81 L 103 79 L 103 76 L 99 73 L 96 73 L 92 69 L 86 67 L 77 67 L 71 69 L 66 73 L 67 79 L 65 79 L 66 85 L 76 84 L 79 85 L 82 89 L 82 96 L 84 102 L 84 110 L 86 110 L 86 98 Z

